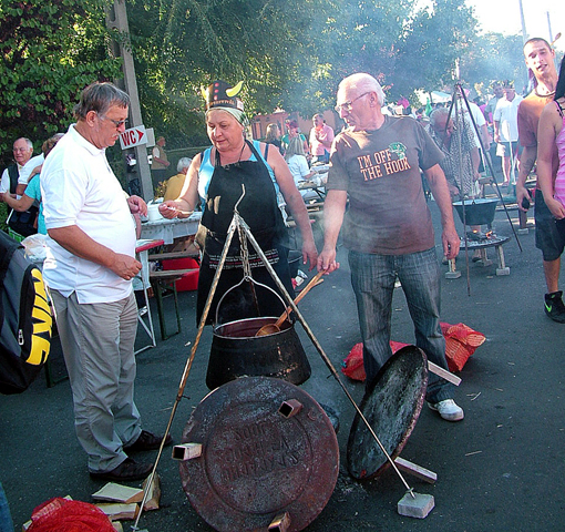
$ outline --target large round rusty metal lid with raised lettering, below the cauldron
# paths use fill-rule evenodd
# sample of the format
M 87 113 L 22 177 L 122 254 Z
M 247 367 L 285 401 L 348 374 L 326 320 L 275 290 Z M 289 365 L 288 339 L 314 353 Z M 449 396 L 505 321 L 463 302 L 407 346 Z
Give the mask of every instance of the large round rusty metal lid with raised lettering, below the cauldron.
M 208 393 L 183 431 L 183 443 L 193 442 L 202 443 L 202 454 L 181 462 L 183 488 L 220 532 L 267 531 L 285 512 L 285 530 L 302 530 L 336 487 L 339 448 L 330 420 L 280 379 L 243 377 Z

